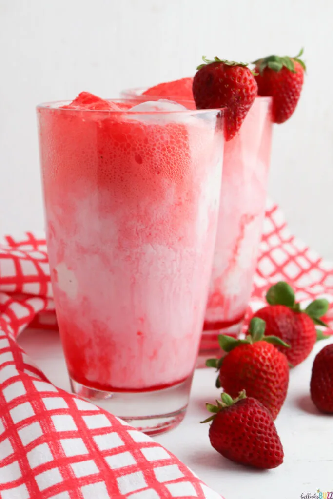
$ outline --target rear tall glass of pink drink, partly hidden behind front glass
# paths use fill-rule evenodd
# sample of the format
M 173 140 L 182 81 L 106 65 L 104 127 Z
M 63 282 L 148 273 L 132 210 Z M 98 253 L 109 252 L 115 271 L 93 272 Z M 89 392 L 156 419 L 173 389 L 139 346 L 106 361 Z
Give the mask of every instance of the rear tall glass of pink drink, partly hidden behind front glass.
M 134 101 L 158 100 L 145 89 Z M 165 99 L 165 97 L 164 97 Z M 176 100 L 169 96 L 168 99 Z M 251 295 L 262 235 L 272 143 L 271 97 L 257 97 L 239 134 L 226 142 L 214 263 L 198 366 L 221 356 L 219 334 L 237 335 Z M 195 109 L 194 101 L 187 107 Z

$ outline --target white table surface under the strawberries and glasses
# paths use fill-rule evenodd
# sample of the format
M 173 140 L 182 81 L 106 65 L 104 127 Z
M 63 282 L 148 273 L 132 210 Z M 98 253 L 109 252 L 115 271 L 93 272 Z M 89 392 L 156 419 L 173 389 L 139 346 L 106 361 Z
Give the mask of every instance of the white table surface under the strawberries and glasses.
M 26 330 L 19 343 L 51 382 L 69 389 L 57 332 Z M 276 420 L 285 451 L 279 468 L 246 468 L 223 458 L 210 446 L 208 425 L 199 421 L 206 417 L 205 402 L 213 402 L 219 394 L 212 369 L 195 372 L 184 421 L 155 440 L 226 499 L 296 499 L 318 489 L 333 491 L 333 415 L 320 414 L 309 396 L 315 354 L 327 343 L 317 343 L 308 359 L 291 371 L 288 396 Z

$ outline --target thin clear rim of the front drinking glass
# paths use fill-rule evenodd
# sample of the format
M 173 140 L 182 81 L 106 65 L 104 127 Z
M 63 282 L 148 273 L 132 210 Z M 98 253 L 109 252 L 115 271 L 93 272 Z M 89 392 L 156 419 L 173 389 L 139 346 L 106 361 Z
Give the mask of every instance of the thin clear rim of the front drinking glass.
M 133 103 L 133 99 L 126 98 L 126 99 L 103 99 L 106 100 L 107 102 L 123 102 L 123 103 Z M 182 103 L 191 103 L 193 105 L 193 100 L 178 100 L 178 101 L 171 101 L 170 99 L 159 99 L 163 101 L 170 101 L 174 102 L 175 104 L 182 104 Z M 51 110 L 51 111 L 62 111 L 62 112 L 68 112 L 68 113 L 106 113 L 106 114 L 128 114 L 128 115 L 137 115 L 137 114 L 142 114 L 142 115 L 148 115 L 148 114 L 180 114 L 180 115 L 187 115 L 187 114 L 204 114 L 204 113 L 213 113 L 213 112 L 224 112 L 226 111 L 226 107 L 217 107 L 217 108 L 210 108 L 210 109 L 175 109 L 175 110 L 167 110 L 167 109 L 161 109 L 161 110 L 150 110 L 150 111 L 131 111 L 131 109 L 79 109 L 79 108 L 65 108 L 62 106 L 66 106 L 70 104 L 72 101 L 71 100 L 56 100 L 56 101 L 50 101 L 50 102 L 42 102 L 41 104 L 36 105 L 36 110 Z M 147 100 L 145 102 L 148 102 Z M 151 101 L 151 102 L 158 102 L 158 101 Z M 139 103 L 133 104 L 134 106 L 139 105 Z

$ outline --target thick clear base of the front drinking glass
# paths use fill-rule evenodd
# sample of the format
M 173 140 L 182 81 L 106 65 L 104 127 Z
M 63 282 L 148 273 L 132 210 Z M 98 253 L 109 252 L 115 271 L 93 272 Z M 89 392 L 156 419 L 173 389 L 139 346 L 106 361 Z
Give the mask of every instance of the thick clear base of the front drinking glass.
M 193 373 L 182 383 L 142 392 L 107 392 L 89 388 L 71 377 L 72 392 L 123 419 L 147 435 L 158 435 L 179 425 L 188 405 Z

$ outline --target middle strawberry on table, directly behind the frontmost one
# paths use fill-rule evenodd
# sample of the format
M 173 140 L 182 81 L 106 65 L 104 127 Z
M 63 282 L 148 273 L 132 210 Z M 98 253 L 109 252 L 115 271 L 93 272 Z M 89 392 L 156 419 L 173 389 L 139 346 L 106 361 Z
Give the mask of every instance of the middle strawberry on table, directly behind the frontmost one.
M 232 397 L 246 390 L 277 417 L 286 399 L 289 383 L 287 357 L 275 345 L 288 345 L 275 336 L 264 336 L 265 322 L 253 318 L 245 340 L 220 335 L 219 343 L 227 355 L 208 359 L 208 367 L 219 369 L 216 386 Z

